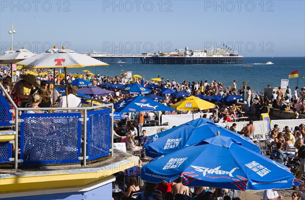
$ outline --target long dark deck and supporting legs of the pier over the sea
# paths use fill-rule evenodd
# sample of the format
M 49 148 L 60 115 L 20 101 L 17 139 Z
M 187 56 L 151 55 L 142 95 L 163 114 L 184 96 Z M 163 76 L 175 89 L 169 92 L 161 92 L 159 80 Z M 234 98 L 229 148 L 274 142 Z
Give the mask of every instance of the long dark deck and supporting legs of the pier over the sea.
M 144 55 L 105 55 L 94 57 L 109 64 L 242 64 L 243 56 L 144 56 Z

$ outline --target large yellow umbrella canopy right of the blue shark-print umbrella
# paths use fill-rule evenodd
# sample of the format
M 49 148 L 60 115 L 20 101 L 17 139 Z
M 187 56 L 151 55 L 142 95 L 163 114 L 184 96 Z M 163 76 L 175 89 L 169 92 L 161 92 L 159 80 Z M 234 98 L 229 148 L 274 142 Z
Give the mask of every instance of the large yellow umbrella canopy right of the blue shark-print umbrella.
M 205 110 L 210 108 L 215 108 L 215 104 L 204 101 L 196 96 L 187 97 L 180 102 L 171 105 L 170 107 L 175 110 L 182 111 L 194 111 L 194 110 Z

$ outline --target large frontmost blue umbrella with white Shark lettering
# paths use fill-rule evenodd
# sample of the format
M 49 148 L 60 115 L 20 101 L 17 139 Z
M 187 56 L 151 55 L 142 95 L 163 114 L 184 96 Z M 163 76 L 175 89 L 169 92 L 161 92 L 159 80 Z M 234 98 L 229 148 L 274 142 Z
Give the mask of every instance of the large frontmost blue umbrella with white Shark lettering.
M 166 154 L 141 169 L 141 179 L 147 182 L 172 182 L 178 177 L 187 186 L 235 190 L 287 189 L 295 180 L 286 166 L 224 136 Z

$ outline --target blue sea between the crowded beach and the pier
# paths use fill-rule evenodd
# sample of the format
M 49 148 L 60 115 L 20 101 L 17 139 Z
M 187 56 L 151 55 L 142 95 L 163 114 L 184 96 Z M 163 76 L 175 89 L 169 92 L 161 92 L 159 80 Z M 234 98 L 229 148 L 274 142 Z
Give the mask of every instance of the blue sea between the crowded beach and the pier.
M 266 64 L 268 61 L 273 64 Z M 243 68 L 251 65 L 252 68 Z M 282 79 L 288 79 L 291 72 L 299 70 L 299 78 L 289 79 L 289 86 L 293 91 L 295 86 L 305 86 L 305 57 L 244 57 L 243 64 L 132 64 L 117 63 L 109 66 L 95 66 L 85 68 L 68 69 L 68 73 L 83 73 L 89 70 L 94 74 L 106 76 L 121 76 L 123 72 L 132 72 L 140 75 L 145 80 L 151 78 L 175 79 L 183 81 L 213 80 L 222 82 L 226 87 L 231 86 L 235 80 L 237 89 L 242 87 L 243 81 L 254 91 L 264 91 L 267 85 L 271 87 L 281 86 Z

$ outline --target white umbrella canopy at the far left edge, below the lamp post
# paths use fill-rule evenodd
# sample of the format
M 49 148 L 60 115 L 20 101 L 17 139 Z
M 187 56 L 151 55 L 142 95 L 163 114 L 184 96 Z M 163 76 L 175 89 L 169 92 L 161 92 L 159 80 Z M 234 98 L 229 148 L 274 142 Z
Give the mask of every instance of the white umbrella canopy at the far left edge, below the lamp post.
M 22 49 L 17 50 L 16 52 L 9 52 L 0 55 L 0 63 L 16 63 L 20 60 L 35 56 L 37 54 L 30 52 L 29 50 Z

